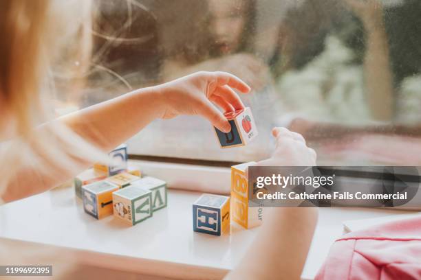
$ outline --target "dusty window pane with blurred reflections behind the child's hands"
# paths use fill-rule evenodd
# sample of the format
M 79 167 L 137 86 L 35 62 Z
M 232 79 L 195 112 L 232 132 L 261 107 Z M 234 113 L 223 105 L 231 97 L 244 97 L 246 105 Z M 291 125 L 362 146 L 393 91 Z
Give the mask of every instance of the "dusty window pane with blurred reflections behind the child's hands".
M 259 129 L 252 143 L 221 150 L 207 121 L 177 117 L 153 121 L 131 153 L 258 160 L 271 128 L 286 126 L 321 164 L 420 161 L 419 0 L 116 0 L 98 1 L 97 16 L 81 107 L 195 71 L 252 87 L 241 96 Z

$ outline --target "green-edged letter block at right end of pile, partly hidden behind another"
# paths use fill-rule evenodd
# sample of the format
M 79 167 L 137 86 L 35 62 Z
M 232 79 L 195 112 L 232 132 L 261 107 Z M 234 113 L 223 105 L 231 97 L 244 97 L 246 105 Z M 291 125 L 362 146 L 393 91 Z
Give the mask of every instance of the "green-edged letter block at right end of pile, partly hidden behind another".
M 153 211 L 166 207 L 166 183 L 163 180 L 147 176 L 133 182 L 131 185 L 152 192 Z

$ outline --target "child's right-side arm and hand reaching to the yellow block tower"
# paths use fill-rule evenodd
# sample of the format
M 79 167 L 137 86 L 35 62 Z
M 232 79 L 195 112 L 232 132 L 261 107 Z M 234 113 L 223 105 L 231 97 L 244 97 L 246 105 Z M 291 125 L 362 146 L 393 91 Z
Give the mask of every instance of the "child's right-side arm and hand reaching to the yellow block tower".
M 277 148 L 257 165 L 312 166 L 314 150 L 301 135 L 274 128 Z M 267 208 L 263 225 L 244 259 L 226 279 L 300 279 L 317 222 L 315 208 Z

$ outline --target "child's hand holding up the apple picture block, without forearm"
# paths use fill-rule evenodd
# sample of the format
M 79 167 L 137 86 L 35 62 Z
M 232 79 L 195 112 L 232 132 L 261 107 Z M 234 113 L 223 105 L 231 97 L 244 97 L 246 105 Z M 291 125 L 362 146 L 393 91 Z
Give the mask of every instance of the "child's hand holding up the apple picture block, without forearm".
M 158 86 L 162 103 L 162 119 L 177 115 L 202 115 L 223 132 L 231 127 L 224 115 L 212 104 L 230 112 L 244 108 L 233 89 L 248 93 L 250 87 L 235 75 L 225 72 L 197 72 Z

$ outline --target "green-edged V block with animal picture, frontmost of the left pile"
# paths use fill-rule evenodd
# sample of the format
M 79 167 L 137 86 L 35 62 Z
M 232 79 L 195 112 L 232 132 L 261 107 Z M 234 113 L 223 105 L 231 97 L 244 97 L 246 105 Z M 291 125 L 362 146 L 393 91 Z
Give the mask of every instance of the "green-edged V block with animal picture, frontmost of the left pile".
M 152 192 L 129 186 L 113 193 L 114 216 L 135 225 L 153 215 Z

